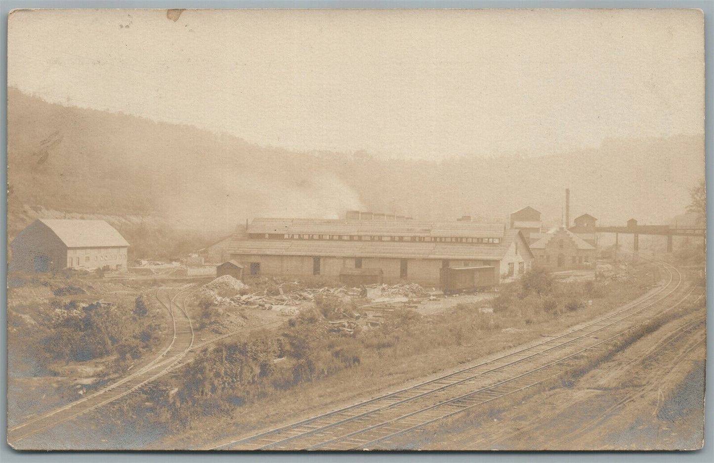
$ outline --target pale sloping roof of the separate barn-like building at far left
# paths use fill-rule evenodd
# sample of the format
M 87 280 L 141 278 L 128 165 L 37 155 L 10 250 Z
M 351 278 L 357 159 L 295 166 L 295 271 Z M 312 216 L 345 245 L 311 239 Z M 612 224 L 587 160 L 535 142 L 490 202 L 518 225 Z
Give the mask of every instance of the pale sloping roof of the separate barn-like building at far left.
M 67 248 L 125 248 L 129 246 L 116 228 L 104 220 L 38 219 Z

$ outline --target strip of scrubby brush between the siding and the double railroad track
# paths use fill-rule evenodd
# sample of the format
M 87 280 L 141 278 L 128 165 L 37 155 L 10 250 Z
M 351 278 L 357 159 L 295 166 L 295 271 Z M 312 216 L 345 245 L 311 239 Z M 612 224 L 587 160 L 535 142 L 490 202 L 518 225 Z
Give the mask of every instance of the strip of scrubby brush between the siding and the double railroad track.
M 354 381 L 358 388 L 360 381 L 383 375 L 392 365 L 423 365 L 423 376 L 436 370 L 416 359 L 447 351 L 454 352 L 456 364 L 457 352 L 487 355 L 488 347 L 505 347 L 504 340 L 516 345 L 536 336 L 536 329 L 557 329 L 560 321 L 573 324 L 632 300 L 646 291 L 644 282 L 652 283 L 648 266 L 635 268 L 620 280 L 573 283 L 560 283 L 533 270 L 503 287 L 494 300 L 458 304 L 428 317 L 397 310 L 380 326 L 357 329 L 352 335 L 330 330 L 328 320 L 341 302 L 326 297 L 277 332 L 254 332 L 203 350 L 190 365 L 133 402 L 114 405 L 102 426 L 112 432 L 186 432 L 204 417 L 215 422 L 236 412 L 249 426 L 242 408 L 265 400 L 275 404 L 288 391 L 299 395 L 302 386 L 332 377 Z M 442 355 L 439 368 L 447 366 Z

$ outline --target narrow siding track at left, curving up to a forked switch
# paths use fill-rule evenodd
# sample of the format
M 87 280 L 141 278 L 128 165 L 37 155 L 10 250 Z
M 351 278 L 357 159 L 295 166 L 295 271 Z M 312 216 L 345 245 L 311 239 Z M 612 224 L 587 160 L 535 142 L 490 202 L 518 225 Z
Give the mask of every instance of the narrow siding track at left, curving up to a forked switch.
M 126 375 L 126 377 L 121 378 L 121 380 L 114 382 L 108 387 L 104 387 L 87 397 L 8 429 L 8 442 L 16 444 L 22 439 L 55 427 L 80 414 L 90 412 L 97 407 L 119 400 L 131 392 L 136 392 L 136 390 L 139 390 L 139 388 L 146 385 L 146 383 L 165 375 L 166 372 L 169 372 L 173 367 L 178 365 L 186 355 L 186 352 L 193 347 L 193 325 L 186 312 L 186 299 L 195 291 L 194 286 L 193 283 L 189 283 L 176 288 L 178 292 L 176 292 L 173 297 L 161 295 L 161 290 L 165 291 L 166 288 L 156 290 L 156 299 L 169 311 L 174 330 L 171 343 L 159 356 L 139 368 L 139 370 Z M 178 297 L 181 296 L 183 297 L 181 302 L 176 302 Z M 174 310 L 174 307 L 178 307 L 178 310 Z

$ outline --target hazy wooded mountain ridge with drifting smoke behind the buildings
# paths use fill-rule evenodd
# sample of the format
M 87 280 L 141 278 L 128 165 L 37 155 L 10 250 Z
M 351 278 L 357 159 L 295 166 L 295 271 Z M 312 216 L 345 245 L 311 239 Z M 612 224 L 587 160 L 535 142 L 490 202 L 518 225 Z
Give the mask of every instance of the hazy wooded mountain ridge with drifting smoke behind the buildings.
M 229 228 L 256 215 L 339 217 L 347 209 L 504 218 L 524 205 L 558 220 L 664 222 L 703 176 L 703 136 L 605 140 L 574 153 L 388 160 L 255 146 L 233 136 L 47 103 L 9 89 L 9 205 L 163 216 Z M 59 140 L 59 141 L 58 141 Z

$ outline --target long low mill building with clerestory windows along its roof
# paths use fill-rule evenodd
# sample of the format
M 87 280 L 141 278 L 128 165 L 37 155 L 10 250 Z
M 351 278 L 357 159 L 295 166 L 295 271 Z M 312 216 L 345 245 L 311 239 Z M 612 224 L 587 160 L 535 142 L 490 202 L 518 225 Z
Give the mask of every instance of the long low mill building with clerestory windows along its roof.
M 246 276 L 338 279 L 359 270 L 400 281 L 441 285 L 445 268 L 479 268 L 493 284 L 518 278 L 533 261 L 519 230 L 503 223 L 418 221 L 348 213 L 342 219 L 256 218 L 228 245 Z

